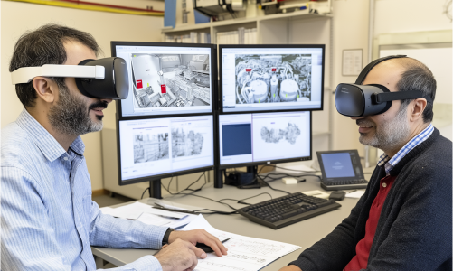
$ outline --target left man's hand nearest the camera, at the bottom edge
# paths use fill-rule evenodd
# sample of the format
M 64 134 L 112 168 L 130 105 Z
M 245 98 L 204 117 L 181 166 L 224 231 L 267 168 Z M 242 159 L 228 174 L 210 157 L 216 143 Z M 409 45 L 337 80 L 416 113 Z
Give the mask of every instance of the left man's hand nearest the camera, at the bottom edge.
M 163 271 L 192 271 L 198 264 L 197 257 L 205 258 L 206 253 L 190 242 L 176 239 L 172 244 L 164 246 L 155 257 Z

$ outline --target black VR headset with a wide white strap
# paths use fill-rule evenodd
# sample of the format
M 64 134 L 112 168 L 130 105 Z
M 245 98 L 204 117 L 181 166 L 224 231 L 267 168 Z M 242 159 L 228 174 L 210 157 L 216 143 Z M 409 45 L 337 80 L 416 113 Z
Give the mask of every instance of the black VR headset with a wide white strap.
M 80 92 L 90 98 L 124 99 L 129 93 L 127 65 L 122 58 L 84 60 L 79 65 L 46 64 L 11 73 L 13 85 L 29 83 L 37 76 L 74 77 Z

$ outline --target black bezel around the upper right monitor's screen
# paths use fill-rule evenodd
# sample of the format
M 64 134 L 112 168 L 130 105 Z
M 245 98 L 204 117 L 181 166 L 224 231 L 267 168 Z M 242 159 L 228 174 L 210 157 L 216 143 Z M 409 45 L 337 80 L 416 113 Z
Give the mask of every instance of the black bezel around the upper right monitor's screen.
M 224 48 L 321 48 L 323 51 L 322 75 L 321 75 L 321 107 L 319 108 L 296 108 L 296 109 L 277 109 L 277 110 L 239 110 L 223 111 L 223 84 L 222 84 L 222 49 Z M 292 111 L 321 111 L 324 109 L 324 80 L 326 73 L 326 45 L 325 44 L 241 44 L 241 45 L 219 45 L 219 112 L 221 114 L 241 114 L 241 113 L 272 113 L 272 112 L 292 112 Z

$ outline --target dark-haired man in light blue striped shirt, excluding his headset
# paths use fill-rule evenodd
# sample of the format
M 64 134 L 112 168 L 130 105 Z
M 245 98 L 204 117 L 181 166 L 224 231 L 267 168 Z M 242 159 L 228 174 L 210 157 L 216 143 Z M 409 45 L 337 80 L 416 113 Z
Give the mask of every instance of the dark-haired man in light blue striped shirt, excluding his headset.
M 10 71 L 44 64 L 78 65 L 96 59 L 89 33 L 47 24 L 15 44 Z M 94 270 L 90 246 L 160 249 L 118 270 L 193 270 L 194 247 L 204 243 L 226 255 L 204 230 L 174 231 L 115 219 L 91 201 L 91 183 L 80 135 L 102 128 L 110 98 L 88 98 L 74 78 L 46 78 L 16 85 L 24 110 L 0 130 L 0 269 Z

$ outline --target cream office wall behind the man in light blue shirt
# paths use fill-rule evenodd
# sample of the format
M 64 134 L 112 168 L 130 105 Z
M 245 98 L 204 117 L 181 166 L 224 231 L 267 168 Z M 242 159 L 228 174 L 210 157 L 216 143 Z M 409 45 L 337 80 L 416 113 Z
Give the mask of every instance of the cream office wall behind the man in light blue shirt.
M 124 3 L 126 2 L 123 1 L 122 5 L 127 4 Z M 93 34 L 104 55 L 109 57 L 110 41 L 160 42 L 163 22 L 163 17 L 112 14 L 0 1 L 0 128 L 14 121 L 23 109 L 15 95 L 14 86 L 10 83 L 8 66 L 14 42 L 26 30 L 44 23 L 62 23 Z M 106 126 L 115 126 L 114 103 L 109 106 L 105 115 Z M 102 189 L 100 133 L 83 135 L 82 139 L 86 145 L 85 156 L 92 190 Z

